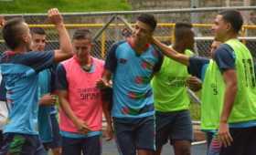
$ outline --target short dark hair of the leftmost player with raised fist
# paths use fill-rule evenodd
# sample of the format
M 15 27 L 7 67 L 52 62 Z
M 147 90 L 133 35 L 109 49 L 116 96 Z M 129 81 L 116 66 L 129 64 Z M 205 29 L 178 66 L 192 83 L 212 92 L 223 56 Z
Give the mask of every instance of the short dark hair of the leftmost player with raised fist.
M 7 20 L 3 29 L 3 38 L 7 47 L 15 49 L 20 44 L 20 35 L 23 33 L 21 24 L 24 22 L 23 18 L 13 18 Z

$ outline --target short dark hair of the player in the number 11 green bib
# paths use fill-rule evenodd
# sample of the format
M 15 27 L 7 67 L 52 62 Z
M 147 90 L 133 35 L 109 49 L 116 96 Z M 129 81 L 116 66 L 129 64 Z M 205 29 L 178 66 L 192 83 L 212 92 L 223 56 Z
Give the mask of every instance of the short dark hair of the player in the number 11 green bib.
M 219 15 L 222 15 L 223 19 L 226 22 L 229 22 L 232 26 L 233 30 L 236 33 L 239 33 L 240 28 L 243 24 L 242 16 L 240 15 L 240 12 L 237 10 L 225 10 L 219 13 Z

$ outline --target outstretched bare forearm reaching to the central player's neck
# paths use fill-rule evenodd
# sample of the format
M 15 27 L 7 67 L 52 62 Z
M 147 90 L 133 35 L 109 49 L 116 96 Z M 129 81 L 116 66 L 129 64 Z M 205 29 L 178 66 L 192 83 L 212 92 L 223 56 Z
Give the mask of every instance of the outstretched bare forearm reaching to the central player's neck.
M 179 63 L 189 66 L 189 57 L 187 57 L 186 55 L 176 52 L 176 50 L 171 47 L 165 46 L 165 44 L 161 43 L 155 38 L 153 38 L 153 44 L 155 44 L 155 46 L 158 47 L 161 52 L 165 54 L 166 57 L 170 57 Z

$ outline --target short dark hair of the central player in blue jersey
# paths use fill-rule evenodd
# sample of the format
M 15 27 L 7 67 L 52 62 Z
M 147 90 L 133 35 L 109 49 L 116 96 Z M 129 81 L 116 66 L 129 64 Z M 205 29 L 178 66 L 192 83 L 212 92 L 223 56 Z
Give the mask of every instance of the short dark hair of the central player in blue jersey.
M 152 31 L 155 30 L 155 27 L 157 25 L 157 21 L 155 19 L 154 15 L 151 14 L 141 14 L 137 17 L 137 20 L 140 22 L 143 22 L 144 24 L 150 26 L 152 28 Z

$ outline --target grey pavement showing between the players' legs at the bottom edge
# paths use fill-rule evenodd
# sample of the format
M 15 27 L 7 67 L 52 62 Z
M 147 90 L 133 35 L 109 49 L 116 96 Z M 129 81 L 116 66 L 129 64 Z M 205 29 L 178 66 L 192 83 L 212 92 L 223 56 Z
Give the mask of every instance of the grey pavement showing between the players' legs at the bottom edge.
M 119 155 L 113 140 L 109 142 L 103 140 L 102 143 L 102 155 Z M 207 148 L 205 144 L 194 145 L 192 147 L 192 155 L 206 155 L 206 150 Z M 174 152 L 169 145 L 165 145 L 162 155 L 174 155 Z

